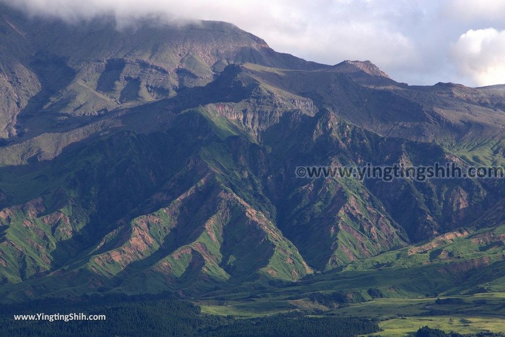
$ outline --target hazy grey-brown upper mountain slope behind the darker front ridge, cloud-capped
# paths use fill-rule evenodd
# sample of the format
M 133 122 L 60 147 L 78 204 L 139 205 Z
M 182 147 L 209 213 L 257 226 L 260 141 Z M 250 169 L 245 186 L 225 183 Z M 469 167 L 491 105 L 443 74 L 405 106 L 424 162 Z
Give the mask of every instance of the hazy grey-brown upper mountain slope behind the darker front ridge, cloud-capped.
M 230 63 L 322 67 L 275 52 L 264 40 L 224 22 L 178 27 L 140 20 L 117 30 L 113 18 L 68 24 L 29 19 L 0 6 L 4 139 L 37 135 L 55 121 L 72 128 L 120 106 L 173 96 L 181 88 L 208 84 Z M 40 110 L 52 119 L 38 116 Z M 25 119 L 23 127 L 18 114 Z M 69 116 L 76 118 L 61 122 Z

